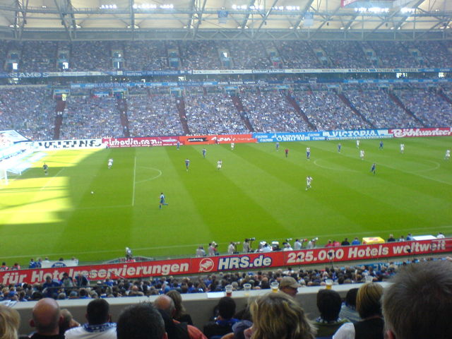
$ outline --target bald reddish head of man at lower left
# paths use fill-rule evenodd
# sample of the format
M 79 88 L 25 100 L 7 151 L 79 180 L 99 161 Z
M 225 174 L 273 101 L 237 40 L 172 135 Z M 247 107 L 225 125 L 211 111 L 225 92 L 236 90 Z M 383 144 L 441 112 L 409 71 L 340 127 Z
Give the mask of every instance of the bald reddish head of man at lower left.
M 33 307 L 30 326 L 35 327 L 40 335 L 58 335 L 62 319 L 57 302 L 44 298 Z

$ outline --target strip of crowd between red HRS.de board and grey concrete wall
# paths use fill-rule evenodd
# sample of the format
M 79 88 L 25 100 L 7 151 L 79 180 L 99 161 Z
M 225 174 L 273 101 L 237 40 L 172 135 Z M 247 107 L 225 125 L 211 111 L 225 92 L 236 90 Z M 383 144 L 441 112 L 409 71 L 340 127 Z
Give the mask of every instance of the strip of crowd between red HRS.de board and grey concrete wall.
M 300 287 L 325 286 L 326 280 L 333 280 L 333 285 L 364 283 L 369 276 L 372 280 L 381 282 L 391 278 L 407 264 L 436 260 L 443 259 L 404 258 L 399 261 L 350 266 L 332 264 L 325 268 L 288 267 L 278 270 L 213 273 L 196 277 L 168 276 L 138 280 L 107 278 L 92 283 L 84 275 L 70 277 L 65 273 L 60 280 L 48 277 L 44 283 L 0 284 L 0 300 L 27 302 L 42 297 L 54 299 L 136 297 L 161 295 L 169 290 L 177 290 L 182 294 L 224 292 L 227 285 L 232 285 L 233 290 L 243 290 L 245 284 L 250 284 L 251 290 L 268 290 L 273 281 L 280 282 L 287 276 L 295 278 Z

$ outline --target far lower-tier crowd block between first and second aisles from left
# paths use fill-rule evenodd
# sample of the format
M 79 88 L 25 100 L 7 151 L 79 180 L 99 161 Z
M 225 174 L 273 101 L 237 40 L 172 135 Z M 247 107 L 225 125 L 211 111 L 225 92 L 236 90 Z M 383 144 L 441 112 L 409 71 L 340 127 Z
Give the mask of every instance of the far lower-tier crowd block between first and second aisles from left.
M 60 138 L 119 138 L 121 128 L 114 97 L 70 97 L 66 102 Z

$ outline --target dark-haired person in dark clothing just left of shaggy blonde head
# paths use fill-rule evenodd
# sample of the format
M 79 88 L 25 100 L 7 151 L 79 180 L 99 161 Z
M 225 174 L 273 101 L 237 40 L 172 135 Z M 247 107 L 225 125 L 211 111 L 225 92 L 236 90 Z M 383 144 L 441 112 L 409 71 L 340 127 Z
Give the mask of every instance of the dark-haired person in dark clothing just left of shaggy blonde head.
M 234 319 L 235 302 L 231 297 L 222 297 L 218 302 L 218 316 L 204 325 L 203 333 L 207 338 L 232 332 L 232 326 L 239 320 Z

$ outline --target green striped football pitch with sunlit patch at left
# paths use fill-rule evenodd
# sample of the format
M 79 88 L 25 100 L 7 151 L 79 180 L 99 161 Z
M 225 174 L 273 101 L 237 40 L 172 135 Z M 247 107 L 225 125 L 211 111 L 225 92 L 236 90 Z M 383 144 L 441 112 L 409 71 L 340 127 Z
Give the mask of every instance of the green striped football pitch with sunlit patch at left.
M 383 142 L 379 150 L 379 140 L 361 141 L 364 160 L 355 141 L 341 141 L 340 153 L 338 141 L 281 143 L 279 151 L 274 143 L 49 151 L 0 186 L 0 258 L 9 265 L 44 256 L 93 262 L 123 256 L 126 246 L 134 255 L 174 258 L 211 241 L 226 253 L 245 237 L 256 237 L 256 246 L 297 237 L 325 244 L 451 235 L 452 160 L 444 154 L 452 138 Z M 160 209 L 161 192 L 169 205 Z

